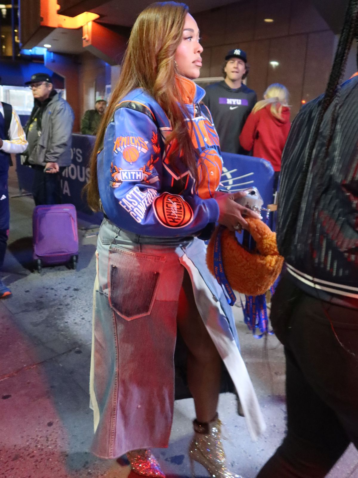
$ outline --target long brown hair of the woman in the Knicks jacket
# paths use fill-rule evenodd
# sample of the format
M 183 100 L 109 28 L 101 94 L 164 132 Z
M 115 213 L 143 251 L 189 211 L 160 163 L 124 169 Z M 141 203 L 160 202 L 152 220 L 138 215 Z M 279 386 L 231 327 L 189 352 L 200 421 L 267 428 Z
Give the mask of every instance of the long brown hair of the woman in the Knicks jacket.
M 181 161 L 197 179 L 196 152 L 178 104 L 184 107 L 181 91 L 175 82 L 174 55 L 182 40 L 187 13 L 188 7 L 184 3 L 152 3 L 140 13 L 133 25 L 119 80 L 101 121 L 90 159 L 90 177 L 85 192 L 88 205 L 94 211 L 99 210 L 97 154 L 103 147 L 106 128 L 116 106 L 134 88 L 146 90 L 171 122 L 173 131 L 166 138 L 166 143 L 174 139 L 176 141 L 169 161 L 175 165 L 180 152 Z

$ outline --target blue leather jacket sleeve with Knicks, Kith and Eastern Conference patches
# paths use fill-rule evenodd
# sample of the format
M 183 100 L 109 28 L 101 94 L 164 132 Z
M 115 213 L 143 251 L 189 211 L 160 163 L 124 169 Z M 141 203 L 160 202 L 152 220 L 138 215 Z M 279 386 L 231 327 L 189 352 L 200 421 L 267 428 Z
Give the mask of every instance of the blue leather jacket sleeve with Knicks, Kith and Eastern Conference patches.
M 173 237 L 195 234 L 217 220 L 215 199 L 163 190 L 164 145 L 147 114 L 119 108 L 112 131 L 109 125 L 98 154 L 98 186 L 104 211 L 116 226 L 146 236 Z

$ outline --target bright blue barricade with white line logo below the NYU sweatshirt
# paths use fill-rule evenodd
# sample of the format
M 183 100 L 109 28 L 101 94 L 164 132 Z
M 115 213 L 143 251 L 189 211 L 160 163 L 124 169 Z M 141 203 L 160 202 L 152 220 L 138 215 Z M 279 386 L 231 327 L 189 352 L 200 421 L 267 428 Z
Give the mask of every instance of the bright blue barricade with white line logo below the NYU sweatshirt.
M 223 152 L 221 155 L 224 162 L 221 183 L 229 191 L 236 192 L 255 186 L 263 199 L 263 207 L 267 208 L 273 203 L 274 171 L 269 161 L 229 152 Z M 265 217 L 265 214 L 262 215 Z M 272 213 L 268 226 L 273 228 Z

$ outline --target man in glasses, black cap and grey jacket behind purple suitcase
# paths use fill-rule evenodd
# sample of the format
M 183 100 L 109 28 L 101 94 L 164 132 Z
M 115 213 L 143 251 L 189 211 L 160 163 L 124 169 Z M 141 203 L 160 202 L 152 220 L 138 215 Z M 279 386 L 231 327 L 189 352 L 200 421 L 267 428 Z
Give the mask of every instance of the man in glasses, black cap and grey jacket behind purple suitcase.
M 29 142 L 26 163 L 35 170 L 33 199 L 36 206 L 61 204 L 61 174 L 71 164 L 74 113 L 45 73 L 36 73 L 25 85 L 32 89 L 34 98 L 25 126 Z

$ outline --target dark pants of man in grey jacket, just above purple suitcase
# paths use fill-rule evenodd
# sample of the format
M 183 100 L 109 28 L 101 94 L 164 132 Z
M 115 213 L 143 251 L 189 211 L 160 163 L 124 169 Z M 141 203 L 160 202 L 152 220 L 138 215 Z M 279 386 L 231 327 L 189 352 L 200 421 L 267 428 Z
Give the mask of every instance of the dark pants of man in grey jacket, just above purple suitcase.
M 60 168 L 59 173 L 45 173 L 43 166 L 33 166 L 35 171 L 33 178 L 33 200 L 35 206 L 40 204 L 61 204 L 61 176 L 65 169 Z

